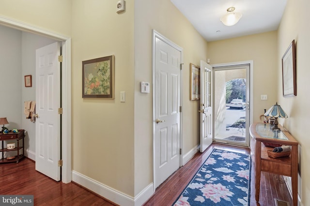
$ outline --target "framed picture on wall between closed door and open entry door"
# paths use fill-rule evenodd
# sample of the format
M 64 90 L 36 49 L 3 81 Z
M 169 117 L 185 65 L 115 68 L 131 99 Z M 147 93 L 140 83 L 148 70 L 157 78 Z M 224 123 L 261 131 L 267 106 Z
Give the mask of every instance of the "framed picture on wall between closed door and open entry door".
M 200 100 L 200 68 L 190 63 L 189 100 Z

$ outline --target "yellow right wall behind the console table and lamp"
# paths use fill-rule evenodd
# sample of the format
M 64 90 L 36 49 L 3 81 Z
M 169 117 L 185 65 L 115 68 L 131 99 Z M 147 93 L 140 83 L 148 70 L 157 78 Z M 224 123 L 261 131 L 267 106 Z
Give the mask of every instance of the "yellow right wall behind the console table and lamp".
M 310 205 L 310 138 L 307 131 L 310 117 L 309 95 L 309 57 L 310 57 L 310 1 L 288 0 L 281 24 L 278 30 L 278 100 L 287 119 L 279 119 L 279 123 L 295 137 L 301 146 L 299 153 L 299 171 L 302 181 L 298 182 L 298 193 L 301 196 L 301 205 Z M 292 40 L 296 44 L 297 96 L 282 96 L 282 69 L 281 59 Z

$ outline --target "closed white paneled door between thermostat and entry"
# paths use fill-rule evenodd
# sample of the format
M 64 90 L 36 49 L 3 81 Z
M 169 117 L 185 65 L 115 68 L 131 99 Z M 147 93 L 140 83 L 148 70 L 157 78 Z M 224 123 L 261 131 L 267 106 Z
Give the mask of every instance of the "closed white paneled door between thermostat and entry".
M 180 167 L 181 50 L 155 35 L 155 188 Z

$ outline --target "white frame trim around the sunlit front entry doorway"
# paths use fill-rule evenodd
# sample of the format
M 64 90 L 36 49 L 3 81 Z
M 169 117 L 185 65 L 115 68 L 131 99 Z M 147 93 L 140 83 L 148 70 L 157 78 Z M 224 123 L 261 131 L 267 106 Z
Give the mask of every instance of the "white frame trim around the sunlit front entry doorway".
M 238 65 L 244 65 L 249 64 L 250 66 L 250 125 L 253 123 L 253 71 L 254 71 L 254 64 L 253 60 L 246 60 L 246 61 L 236 61 L 236 62 L 228 62 L 228 63 L 219 63 L 219 64 L 212 64 L 212 67 L 229 67 L 229 66 L 238 66 Z M 249 135 L 249 134 L 248 134 Z M 213 138 L 213 137 L 212 137 Z M 250 142 L 250 141 L 249 141 Z M 248 145 L 249 146 L 249 145 Z

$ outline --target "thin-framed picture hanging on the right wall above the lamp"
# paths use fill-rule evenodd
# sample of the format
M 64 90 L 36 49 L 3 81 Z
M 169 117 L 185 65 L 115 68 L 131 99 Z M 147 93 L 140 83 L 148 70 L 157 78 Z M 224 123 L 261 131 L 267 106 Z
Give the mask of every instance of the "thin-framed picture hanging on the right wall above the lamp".
M 283 97 L 296 96 L 296 48 L 294 40 L 282 57 L 282 83 Z

